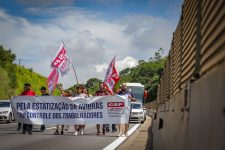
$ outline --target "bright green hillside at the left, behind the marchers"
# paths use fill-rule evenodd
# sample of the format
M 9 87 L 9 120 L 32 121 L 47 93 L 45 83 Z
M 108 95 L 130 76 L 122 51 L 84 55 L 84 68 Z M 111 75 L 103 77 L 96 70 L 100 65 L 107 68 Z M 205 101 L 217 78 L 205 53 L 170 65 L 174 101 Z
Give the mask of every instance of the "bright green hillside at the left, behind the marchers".
M 19 95 L 25 83 L 30 83 L 36 94 L 40 95 L 41 86 L 47 87 L 47 78 L 33 72 L 32 68 L 14 64 L 15 59 L 16 55 L 10 49 L 0 46 L 0 99 Z M 56 89 L 53 95 L 60 95 L 59 90 Z

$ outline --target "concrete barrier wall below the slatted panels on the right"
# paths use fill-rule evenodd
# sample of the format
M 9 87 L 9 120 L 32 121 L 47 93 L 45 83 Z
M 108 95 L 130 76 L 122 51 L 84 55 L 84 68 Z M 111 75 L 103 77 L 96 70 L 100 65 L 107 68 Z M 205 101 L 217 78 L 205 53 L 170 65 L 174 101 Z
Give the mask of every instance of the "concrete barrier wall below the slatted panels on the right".
M 225 150 L 225 61 L 186 87 L 158 107 L 153 149 Z

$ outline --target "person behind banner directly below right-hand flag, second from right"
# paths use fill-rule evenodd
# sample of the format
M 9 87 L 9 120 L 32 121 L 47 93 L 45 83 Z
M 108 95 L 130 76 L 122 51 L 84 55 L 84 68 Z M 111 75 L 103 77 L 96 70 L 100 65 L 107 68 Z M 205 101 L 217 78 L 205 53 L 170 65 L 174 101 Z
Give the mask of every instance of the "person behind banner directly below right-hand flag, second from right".
M 105 90 L 103 82 L 99 83 L 99 90 L 95 93 L 95 96 L 105 96 L 109 95 L 109 93 Z M 102 134 L 105 135 L 107 127 L 109 128 L 109 124 L 103 124 Z M 96 124 L 97 135 L 100 135 L 100 124 Z

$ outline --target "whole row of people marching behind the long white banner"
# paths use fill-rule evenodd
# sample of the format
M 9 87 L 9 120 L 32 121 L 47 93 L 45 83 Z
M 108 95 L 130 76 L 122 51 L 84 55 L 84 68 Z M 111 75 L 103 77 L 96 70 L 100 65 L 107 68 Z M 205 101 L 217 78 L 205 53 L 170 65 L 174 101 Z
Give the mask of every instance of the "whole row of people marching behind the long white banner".
M 61 96 L 64 97 L 92 97 L 92 95 L 89 94 L 88 89 L 86 87 L 84 87 L 83 85 L 78 85 L 76 87 L 76 91 L 75 93 L 73 93 L 72 91 L 69 92 L 65 92 L 62 87 L 59 87 L 59 89 L 61 90 Z M 40 88 L 41 91 L 41 96 L 49 96 L 49 94 L 47 93 L 47 89 L 46 87 L 41 87 Z M 120 89 L 113 93 L 110 94 L 109 92 L 107 92 L 105 90 L 104 84 L 103 82 L 99 83 L 99 90 L 96 91 L 94 96 L 105 96 L 105 95 L 114 95 L 114 94 L 118 94 L 118 95 L 126 95 L 128 97 L 128 99 L 130 101 L 135 101 L 135 98 L 133 97 L 133 95 L 131 94 L 131 92 L 127 89 L 127 85 L 125 83 L 123 83 L 120 87 Z M 21 96 L 37 96 L 36 93 L 31 89 L 31 84 L 26 83 L 24 84 L 24 91 L 20 94 Z M 103 124 L 102 128 L 100 124 L 96 124 L 96 135 L 101 135 L 101 130 L 102 130 L 102 135 L 105 135 L 106 132 L 110 131 L 109 128 L 109 124 Z M 18 123 L 18 128 L 17 130 L 21 130 L 22 124 Z M 32 134 L 32 128 L 33 125 L 32 124 L 23 124 L 23 128 L 22 128 L 22 133 L 23 134 Z M 61 131 L 60 130 L 60 125 L 56 126 L 56 130 L 54 132 L 55 135 L 63 135 L 64 134 L 64 130 L 68 130 L 68 126 L 65 125 L 61 125 Z M 85 129 L 85 125 L 84 124 L 80 124 L 80 125 L 74 125 L 74 136 L 78 136 L 85 134 L 84 132 Z M 124 129 L 124 130 L 123 130 Z M 127 124 L 118 124 L 118 130 L 119 130 L 119 134 L 118 136 L 128 136 L 127 135 L 127 131 L 129 129 L 129 123 Z M 44 132 L 45 130 L 45 125 L 41 125 L 40 131 Z M 112 132 L 116 132 L 117 128 L 116 128 L 116 124 L 112 124 Z

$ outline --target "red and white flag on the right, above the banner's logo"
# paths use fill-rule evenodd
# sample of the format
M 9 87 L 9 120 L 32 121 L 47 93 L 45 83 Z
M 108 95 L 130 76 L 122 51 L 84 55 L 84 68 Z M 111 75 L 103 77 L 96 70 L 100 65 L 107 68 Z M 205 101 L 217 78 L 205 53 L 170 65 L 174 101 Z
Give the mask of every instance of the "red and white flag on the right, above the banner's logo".
M 106 90 L 111 94 L 113 93 L 114 86 L 120 80 L 120 77 L 115 68 L 115 59 L 116 57 L 114 57 L 110 62 L 104 80 L 104 86 Z

